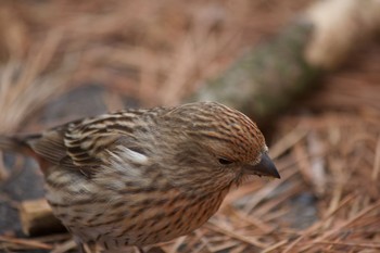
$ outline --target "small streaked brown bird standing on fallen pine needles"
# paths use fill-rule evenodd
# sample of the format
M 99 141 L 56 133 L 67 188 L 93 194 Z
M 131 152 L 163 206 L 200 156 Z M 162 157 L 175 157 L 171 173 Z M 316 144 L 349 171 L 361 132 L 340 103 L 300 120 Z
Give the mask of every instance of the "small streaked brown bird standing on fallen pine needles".
M 35 157 L 54 215 L 105 251 L 189 233 L 245 175 L 280 178 L 256 125 L 215 102 L 89 117 L 0 149 Z

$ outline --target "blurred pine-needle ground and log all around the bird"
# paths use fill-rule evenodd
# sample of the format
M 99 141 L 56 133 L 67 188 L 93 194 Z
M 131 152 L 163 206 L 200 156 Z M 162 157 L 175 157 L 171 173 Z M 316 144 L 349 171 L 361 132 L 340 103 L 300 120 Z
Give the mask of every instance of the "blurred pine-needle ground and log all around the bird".
M 0 134 L 218 101 L 257 122 L 282 178 L 252 178 L 165 252 L 379 252 L 379 30 L 376 0 L 2 0 Z M 0 251 L 75 252 L 23 231 L 43 180 L 2 157 Z

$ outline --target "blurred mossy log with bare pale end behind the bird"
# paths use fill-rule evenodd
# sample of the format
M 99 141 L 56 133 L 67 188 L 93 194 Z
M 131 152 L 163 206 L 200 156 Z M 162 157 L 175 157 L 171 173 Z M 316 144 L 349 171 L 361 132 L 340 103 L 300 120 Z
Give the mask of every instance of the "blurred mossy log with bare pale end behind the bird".
M 380 2 L 373 0 L 318 2 L 278 36 L 245 52 L 191 100 L 219 101 L 264 124 L 376 36 L 379 13 Z

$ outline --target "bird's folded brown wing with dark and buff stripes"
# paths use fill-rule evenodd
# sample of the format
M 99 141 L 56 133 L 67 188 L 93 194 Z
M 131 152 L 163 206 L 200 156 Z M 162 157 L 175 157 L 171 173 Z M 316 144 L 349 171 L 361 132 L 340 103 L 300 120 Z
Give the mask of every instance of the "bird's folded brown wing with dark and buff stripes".
M 132 149 L 134 138 L 128 121 L 115 121 L 109 114 L 53 128 L 28 144 L 50 163 L 91 176 L 121 146 Z

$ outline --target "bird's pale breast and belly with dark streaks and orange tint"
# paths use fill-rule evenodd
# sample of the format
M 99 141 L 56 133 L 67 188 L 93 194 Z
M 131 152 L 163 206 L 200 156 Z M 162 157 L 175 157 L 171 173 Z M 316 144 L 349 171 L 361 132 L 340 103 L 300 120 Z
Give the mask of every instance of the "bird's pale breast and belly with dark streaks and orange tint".
M 202 226 L 228 192 L 189 194 L 170 186 L 96 189 L 79 177 L 68 182 L 59 170 L 51 176 L 55 185 L 47 178 L 47 198 L 54 215 L 84 242 L 105 249 L 148 245 L 186 235 Z

